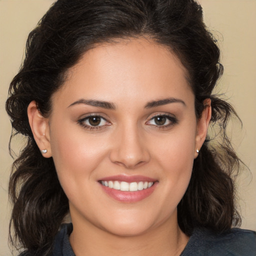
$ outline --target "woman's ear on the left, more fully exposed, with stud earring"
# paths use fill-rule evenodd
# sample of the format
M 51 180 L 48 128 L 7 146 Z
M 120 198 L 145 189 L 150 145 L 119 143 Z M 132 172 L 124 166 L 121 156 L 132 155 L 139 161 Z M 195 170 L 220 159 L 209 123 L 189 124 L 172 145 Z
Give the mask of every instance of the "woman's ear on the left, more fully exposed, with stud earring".
M 27 107 L 27 116 L 37 146 L 41 152 L 46 149 L 46 152 L 42 155 L 44 157 L 51 157 L 48 118 L 41 115 L 35 101 L 29 103 Z

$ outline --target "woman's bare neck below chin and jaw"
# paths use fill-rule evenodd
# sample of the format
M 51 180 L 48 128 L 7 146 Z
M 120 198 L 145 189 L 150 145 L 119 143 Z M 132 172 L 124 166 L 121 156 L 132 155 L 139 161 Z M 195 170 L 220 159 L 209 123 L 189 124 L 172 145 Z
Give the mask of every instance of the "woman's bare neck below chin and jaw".
M 78 220 L 72 222 L 69 239 L 76 256 L 178 256 L 188 241 L 177 221 L 172 219 L 133 236 L 109 233 L 84 219 L 83 224 Z

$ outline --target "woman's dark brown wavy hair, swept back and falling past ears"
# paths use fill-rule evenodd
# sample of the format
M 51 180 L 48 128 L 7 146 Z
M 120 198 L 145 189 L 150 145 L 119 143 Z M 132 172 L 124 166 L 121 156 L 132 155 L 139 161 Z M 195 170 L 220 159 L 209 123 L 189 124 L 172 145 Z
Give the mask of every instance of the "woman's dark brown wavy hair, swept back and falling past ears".
M 29 33 L 25 58 L 6 101 L 11 137 L 21 133 L 26 139 L 9 181 L 12 244 L 33 255 L 48 255 L 68 213 L 53 159 L 41 155 L 33 138 L 26 112 L 29 102 L 35 100 L 41 114 L 48 116 L 52 94 L 86 50 L 96 43 L 140 36 L 168 47 L 180 59 L 195 95 L 197 118 L 204 99 L 211 99 L 211 126 L 218 138 L 208 136 L 194 160 L 190 183 L 177 206 L 180 228 L 187 235 L 195 227 L 221 232 L 240 222 L 233 181 L 239 159 L 225 132 L 235 112 L 212 95 L 223 67 L 201 6 L 194 0 L 57 0 Z

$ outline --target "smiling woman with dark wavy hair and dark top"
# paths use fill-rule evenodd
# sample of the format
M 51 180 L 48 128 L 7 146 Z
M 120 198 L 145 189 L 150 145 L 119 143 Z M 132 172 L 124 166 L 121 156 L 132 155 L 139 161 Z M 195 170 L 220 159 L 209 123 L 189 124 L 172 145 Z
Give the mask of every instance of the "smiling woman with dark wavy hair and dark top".
M 56 1 L 6 102 L 27 137 L 9 183 L 23 255 L 254 255 L 231 229 L 222 69 L 192 0 Z

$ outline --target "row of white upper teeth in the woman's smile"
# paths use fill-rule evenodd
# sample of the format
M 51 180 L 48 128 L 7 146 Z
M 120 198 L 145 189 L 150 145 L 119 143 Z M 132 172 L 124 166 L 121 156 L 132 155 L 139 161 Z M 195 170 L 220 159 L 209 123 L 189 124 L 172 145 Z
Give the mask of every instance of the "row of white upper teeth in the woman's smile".
M 125 182 L 125 181 L 117 181 L 117 180 L 101 180 L 100 183 L 103 186 L 108 186 L 109 188 L 113 188 L 116 190 L 121 190 L 121 191 L 137 191 L 137 190 L 143 190 L 146 188 L 149 188 L 150 186 L 153 185 L 154 182 L 148 182 L 148 181 L 139 181 L 139 182 Z

